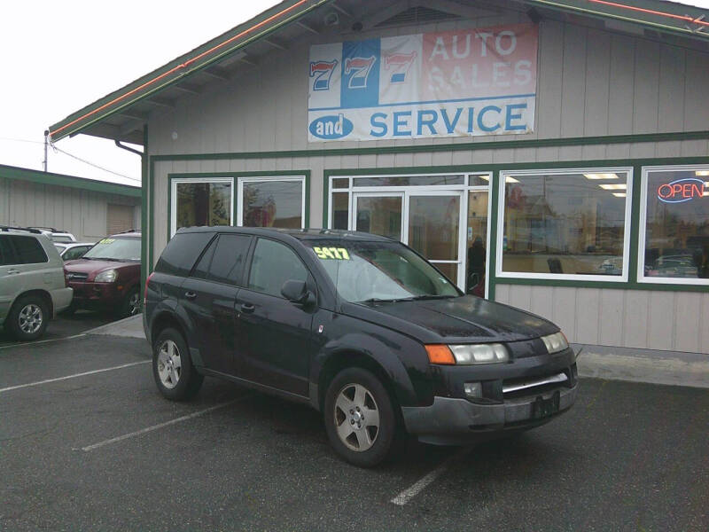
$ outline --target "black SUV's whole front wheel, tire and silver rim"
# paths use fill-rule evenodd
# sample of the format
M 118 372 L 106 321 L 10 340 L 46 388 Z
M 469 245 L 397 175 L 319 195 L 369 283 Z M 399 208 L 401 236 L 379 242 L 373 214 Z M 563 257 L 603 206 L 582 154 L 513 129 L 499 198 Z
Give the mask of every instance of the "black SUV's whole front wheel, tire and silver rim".
M 332 379 L 325 394 L 324 418 L 332 447 L 360 467 L 389 458 L 401 432 L 386 388 L 362 368 L 347 368 Z

